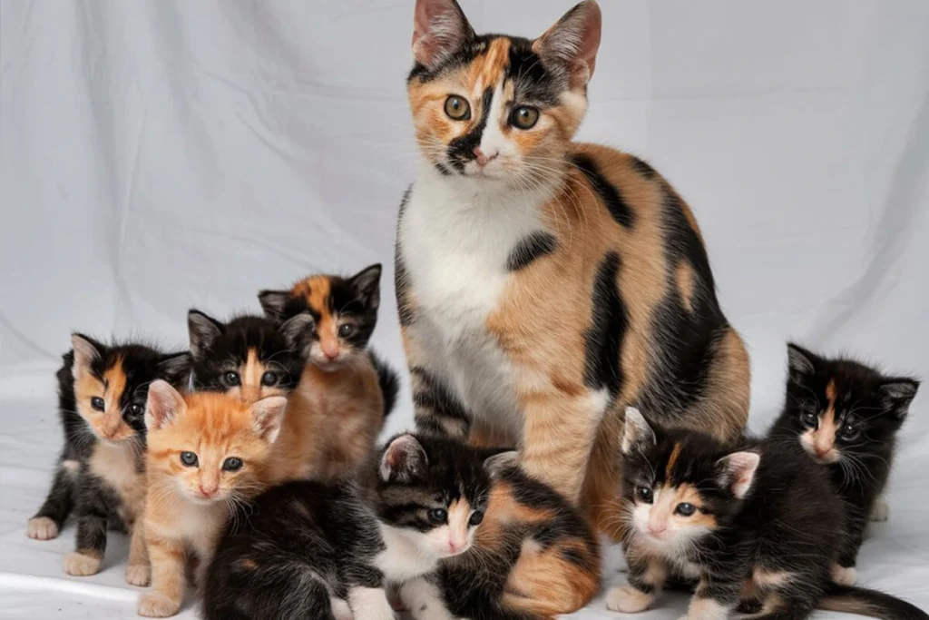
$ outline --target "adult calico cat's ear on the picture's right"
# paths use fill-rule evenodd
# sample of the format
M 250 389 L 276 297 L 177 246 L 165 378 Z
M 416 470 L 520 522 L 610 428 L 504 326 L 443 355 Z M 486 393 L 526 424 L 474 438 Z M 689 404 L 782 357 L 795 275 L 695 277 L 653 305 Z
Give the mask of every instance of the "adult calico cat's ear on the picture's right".
M 599 5 L 585 0 L 533 41 L 532 49 L 544 62 L 563 67 L 571 87 L 585 86 L 594 75 L 601 25 Z

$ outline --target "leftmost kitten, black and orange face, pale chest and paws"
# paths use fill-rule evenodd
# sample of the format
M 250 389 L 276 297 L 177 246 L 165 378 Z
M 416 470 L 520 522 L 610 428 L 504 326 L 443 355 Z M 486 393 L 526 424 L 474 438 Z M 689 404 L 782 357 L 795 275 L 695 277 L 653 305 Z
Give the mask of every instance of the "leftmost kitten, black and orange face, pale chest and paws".
M 64 448 L 26 534 L 55 538 L 73 511 L 77 548 L 65 556 L 64 571 L 88 575 L 100 570 L 108 524 L 131 530 L 126 580 L 141 585 L 147 572 L 137 566 L 145 562 L 145 547 L 134 524 L 145 498 L 145 399 L 155 379 L 186 385 L 190 358 L 140 344 L 104 345 L 81 334 L 71 341 L 56 375 Z

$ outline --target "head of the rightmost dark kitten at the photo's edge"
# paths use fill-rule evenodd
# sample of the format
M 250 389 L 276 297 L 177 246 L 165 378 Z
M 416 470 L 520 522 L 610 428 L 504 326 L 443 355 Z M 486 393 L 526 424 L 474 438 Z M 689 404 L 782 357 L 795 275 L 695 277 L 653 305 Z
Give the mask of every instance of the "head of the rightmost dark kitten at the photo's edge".
M 893 444 L 919 381 L 829 360 L 795 344 L 787 355 L 787 402 L 775 432 L 796 437 L 818 463 L 880 453 Z

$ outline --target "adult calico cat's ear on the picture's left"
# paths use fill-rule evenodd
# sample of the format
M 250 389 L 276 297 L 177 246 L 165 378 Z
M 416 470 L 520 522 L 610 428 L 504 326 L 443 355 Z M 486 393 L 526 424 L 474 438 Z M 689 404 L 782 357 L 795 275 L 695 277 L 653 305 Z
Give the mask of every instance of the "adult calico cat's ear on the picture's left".
M 416 0 L 412 18 L 416 62 L 434 67 L 474 37 L 474 29 L 455 0 Z

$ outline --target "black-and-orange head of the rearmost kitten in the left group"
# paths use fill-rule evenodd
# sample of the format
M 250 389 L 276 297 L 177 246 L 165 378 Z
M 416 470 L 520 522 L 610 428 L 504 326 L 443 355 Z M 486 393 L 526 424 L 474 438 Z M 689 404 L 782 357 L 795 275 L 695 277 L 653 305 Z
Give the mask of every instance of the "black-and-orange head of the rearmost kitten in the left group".
M 309 360 L 333 370 L 365 355 L 381 305 L 381 266 L 372 265 L 350 278 L 314 275 L 286 291 L 262 291 L 258 300 L 273 321 L 303 313 L 315 319 Z

